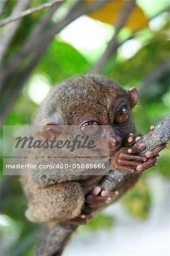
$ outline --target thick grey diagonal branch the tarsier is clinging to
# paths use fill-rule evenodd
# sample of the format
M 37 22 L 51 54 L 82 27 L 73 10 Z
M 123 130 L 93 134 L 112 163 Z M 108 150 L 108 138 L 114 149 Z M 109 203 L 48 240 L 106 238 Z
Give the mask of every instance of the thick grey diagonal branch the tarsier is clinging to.
M 153 130 L 147 135 L 144 135 L 135 143 L 134 147 L 139 143 L 145 143 L 146 149 L 142 152 L 136 152 L 136 154 L 144 155 L 146 151 L 154 150 L 156 147 L 161 146 L 163 143 L 168 142 L 170 139 L 170 115 L 168 115 L 159 125 L 155 126 Z M 136 173 L 130 173 L 126 171 L 111 170 L 110 174 L 105 176 L 102 183 L 99 184 L 107 191 L 118 191 L 122 184 L 125 184 L 128 176 L 136 175 Z M 138 175 L 138 173 L 137 173 Z M 140 175 L 140 174 L 139 174 Z M 119 198 L 119 195 L 115 195 L 115 200 Z M 82 213 L 92 213 L 96 209 L 86 207 L 82 210 Z M 71 225 L 61 223 L 56 225 L 41 243 L 36 250 L 35 256 L 54 256 L 61 255 L 61 251 L 64 249 L 65 242 L 74 232 L 78 225 Z

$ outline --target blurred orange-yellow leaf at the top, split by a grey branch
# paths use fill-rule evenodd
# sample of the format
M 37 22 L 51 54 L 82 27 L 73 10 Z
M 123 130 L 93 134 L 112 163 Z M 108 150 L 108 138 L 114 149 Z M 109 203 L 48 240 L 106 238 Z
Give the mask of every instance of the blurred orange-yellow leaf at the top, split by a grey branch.
M 98 0 L 86 0 L 89 4 Z M 90 18 L 98 19 L 101 22 L 114 25 L 121 13 L 123 6 L 127 3 L 125 0 L 110 1 L 106 3 L 101 9 L 89 14 Z M 132 10 L 125 27 L 131 28 L 132 31 L 140 30 L 141 28 L 148 26 L 148 18 L 144 15 L 139 6 L 135 6 Z

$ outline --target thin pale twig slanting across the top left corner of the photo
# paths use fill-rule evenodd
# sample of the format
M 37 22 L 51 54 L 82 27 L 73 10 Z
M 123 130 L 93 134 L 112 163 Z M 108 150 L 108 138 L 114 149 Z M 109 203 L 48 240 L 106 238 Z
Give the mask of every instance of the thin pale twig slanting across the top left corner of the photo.
M 39 11 L 39 10 L 45 9 L 47 7 L 52 7 L 53 5 L 55 5 L 55 3 L 63 2 L 63 1 L 64 0 L 54 0 L 52 2 L 43 3 L 43 5 L 39 5 L 39 6 L 36 6 L 36 7 L 32 7 L 30 9 L 28 9 L 28 10 L 22 11 L 22 13 L 20 13 L 18 15 L 10 16 L 10 17 L 8 17 L 6 19 L 3 19 L 0 22 L 0 27 L 3 27 L 3 26 L 5 26 L 6 24 L 8 24 L 10 22 L 14 22 L 17 19 L 23 18 L 24 16 L 30 15 L 32 13 L 35 13 L 35 11 Z

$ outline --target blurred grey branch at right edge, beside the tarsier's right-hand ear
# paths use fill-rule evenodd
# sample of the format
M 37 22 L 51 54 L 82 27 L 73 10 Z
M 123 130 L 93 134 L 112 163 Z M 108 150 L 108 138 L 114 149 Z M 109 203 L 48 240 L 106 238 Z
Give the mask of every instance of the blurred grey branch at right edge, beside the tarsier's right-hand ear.
M 144 96 L 148 87 L 152 86 L 154 82 L 159 80 L 164 75 L 164 73 L 168 71 L 168 68 L 169 68 L 169 57 L 166 60 L 164 60 L 162 63 L 160 63 L 156 67 L 155 71 L 151 72 L 151 75 L 147 77 L 143 85 L 138 90 L 139 96 L 140 97 Z

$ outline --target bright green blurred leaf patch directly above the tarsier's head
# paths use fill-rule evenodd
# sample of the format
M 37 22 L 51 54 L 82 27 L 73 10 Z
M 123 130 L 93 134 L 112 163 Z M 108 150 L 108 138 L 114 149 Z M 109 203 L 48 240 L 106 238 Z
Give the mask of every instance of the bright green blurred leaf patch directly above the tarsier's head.
M 52 84 L 55 84 L 56 81 L 86 73 L 88 68 L 88 61 L 75 48 L 70 44 L 53 40 L 35 72 L 47 73 Z

